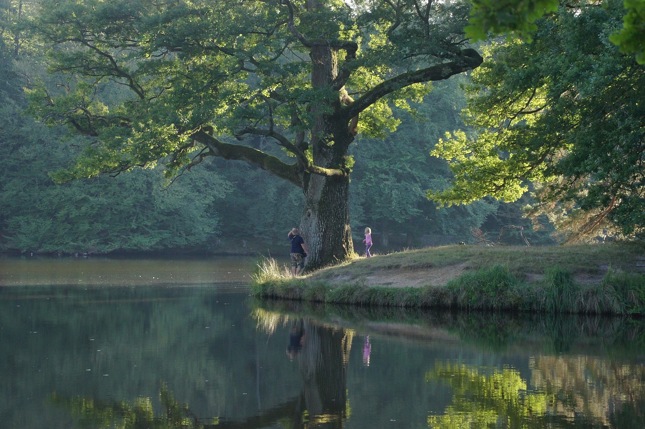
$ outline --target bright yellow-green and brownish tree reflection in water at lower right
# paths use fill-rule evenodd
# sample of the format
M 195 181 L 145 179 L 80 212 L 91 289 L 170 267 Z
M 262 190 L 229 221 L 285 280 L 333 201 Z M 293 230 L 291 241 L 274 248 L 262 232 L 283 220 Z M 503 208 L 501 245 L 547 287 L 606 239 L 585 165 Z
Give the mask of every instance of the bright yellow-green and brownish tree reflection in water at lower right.
M 610 366 L 611 368 L 608 368 Z M 432 428 L 642 428 L 645 368 L 588 357 L 537 357 L 531 391 L 519 372 L 437 363 L 427 381 L 453 388 L 444 415 Z

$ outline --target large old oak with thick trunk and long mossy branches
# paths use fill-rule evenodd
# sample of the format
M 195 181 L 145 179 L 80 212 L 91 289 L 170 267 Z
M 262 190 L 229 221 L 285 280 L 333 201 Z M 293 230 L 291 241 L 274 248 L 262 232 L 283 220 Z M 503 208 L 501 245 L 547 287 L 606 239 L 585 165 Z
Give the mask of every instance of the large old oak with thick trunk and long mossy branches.
M 33 111 L 88 136 L 59 180 L 223 157 L 293 183 L 322 266 L 353 252 L 348 146 L 395 128 L 392 103 L 482 63 L 467 16 L 433 0 L 43 0 L 34 28 L 61 83 L 34 90 Z

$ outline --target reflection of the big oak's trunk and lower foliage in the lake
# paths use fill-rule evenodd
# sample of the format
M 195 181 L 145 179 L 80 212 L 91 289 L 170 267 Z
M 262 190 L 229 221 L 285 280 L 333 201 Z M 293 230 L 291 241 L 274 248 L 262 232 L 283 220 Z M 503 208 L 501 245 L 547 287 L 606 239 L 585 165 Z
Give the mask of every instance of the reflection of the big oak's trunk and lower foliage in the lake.
M 353 331 L 310 323 L 307 319 L 266 316 L 260 323 L 270 332 L 277 326 L 275 323 L 292 325 L 287 353 L 297 361 L 303 391 L 244 421 L 201 419 L 192 414 L 188 405 L 177 402 L 165 384 L 159 394 L 162 408 L 159 415 L 154 415 L 152 400 L 147 397 L 128 403 L 53 394 L 52 401 L 66 408 L 83 428 L 251 429 L 273 426 L 276 422 L 292 429 L 342 428 L 348 409 L 347 365 Z

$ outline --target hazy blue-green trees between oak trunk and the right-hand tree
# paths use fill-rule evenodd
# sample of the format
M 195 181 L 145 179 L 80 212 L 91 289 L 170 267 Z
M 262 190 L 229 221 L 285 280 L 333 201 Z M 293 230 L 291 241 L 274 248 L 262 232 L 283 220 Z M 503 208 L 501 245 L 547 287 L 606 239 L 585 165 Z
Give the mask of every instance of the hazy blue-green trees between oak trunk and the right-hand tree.
M 459 113 L 465 97 L 459 77 L 437 83 L 415 114 L 401 112 L 402 123 L 385 139 L 361 139 L 353 143 L 352 198 L 360 212 L 353 215 L 353 229 L 372 226 L 380 248 L 419 246 L 421 235 L 441 237 L 432 244 L 468 241 L 470 228 L 479 228 L 499 203 L 480 201 L 473 205 L 442 208 L 428 201 L 429 186 L 447 186 L 450 170 L 430 151 L 446 130 L 462 126 Z M 403 243 L 390 243 L 389 234 L 405 235 Z

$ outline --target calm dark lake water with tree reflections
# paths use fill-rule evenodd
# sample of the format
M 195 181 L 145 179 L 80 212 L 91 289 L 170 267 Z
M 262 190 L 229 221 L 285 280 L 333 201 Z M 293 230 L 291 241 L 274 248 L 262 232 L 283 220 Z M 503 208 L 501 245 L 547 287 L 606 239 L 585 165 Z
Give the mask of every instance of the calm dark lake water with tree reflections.
M 0 428 L 643 428 L 645 324 L 250 297 L 255 259 L 0 259 Z

